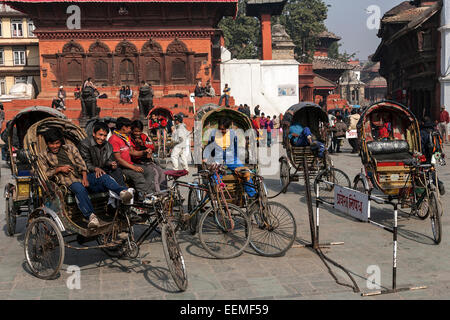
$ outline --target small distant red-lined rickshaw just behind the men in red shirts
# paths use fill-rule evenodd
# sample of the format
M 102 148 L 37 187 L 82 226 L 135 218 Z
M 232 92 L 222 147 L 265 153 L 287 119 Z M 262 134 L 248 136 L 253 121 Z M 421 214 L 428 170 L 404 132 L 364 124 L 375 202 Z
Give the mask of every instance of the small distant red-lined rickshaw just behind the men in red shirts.
M 164 117 L 163 123 L 160 123 L 160 127 L 152 129 L 152 115 L 156 117 Z M 167 108 L 157 107 L 150 110 L 148 114 L 148 130 L 149 137 L 153 143 L 156 144 L 158 151 L 158 159 L 163 160 L 169 155 L 168 146 L 170 145 L 173 126 L 173 113 Z

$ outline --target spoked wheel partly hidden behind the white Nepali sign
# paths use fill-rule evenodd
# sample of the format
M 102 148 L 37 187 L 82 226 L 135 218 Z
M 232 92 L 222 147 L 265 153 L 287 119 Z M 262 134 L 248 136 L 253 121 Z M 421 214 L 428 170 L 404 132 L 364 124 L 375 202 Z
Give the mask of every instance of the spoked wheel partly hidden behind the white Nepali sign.
M 351 188 L 350 179 L 344 171 L 336 168 L 328 168 L 321 171 L 314 179 L 314 192 L 316 192 L 318 187 L 319 198 L 328 204 L 334 203 L 334 185 L 324 181 Z

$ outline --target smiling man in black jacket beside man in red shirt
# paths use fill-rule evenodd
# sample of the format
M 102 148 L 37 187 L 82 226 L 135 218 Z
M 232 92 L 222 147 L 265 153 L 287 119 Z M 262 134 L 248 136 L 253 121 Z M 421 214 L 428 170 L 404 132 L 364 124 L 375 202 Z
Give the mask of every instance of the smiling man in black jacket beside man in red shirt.
M 79 149 L 89 171 L 91 179 L 110 175 L 122 187 L 125 187 L 122 170 L 119 168 L 112 145 L 106 141 L 109 127 L 104 122 L 94 125 L 92 135 L 80 142 Z

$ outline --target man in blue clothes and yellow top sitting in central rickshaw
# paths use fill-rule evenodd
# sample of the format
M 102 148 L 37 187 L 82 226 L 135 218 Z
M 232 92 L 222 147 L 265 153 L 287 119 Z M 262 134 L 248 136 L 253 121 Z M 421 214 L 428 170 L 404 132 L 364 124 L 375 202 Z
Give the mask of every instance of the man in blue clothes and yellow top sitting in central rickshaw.
M 230 129 L 230 126 L 230 119 L 219 119 L 218 130 L 211 134 L 209 143 L 205 147 L 203 162 L 223 163 L 228 169 L 237 172 L 239 170 L 236 169 L 244 167 L 244 165 L 238 157 L 238 136 L 236 131 Z M 218 183 L 217 179 L 216 182 Z M 253 184 L 251 179 L 248 182 Z M 244 184 L 244 191 L 250 198 L 256 196 L 255 188 L 249 184 Z

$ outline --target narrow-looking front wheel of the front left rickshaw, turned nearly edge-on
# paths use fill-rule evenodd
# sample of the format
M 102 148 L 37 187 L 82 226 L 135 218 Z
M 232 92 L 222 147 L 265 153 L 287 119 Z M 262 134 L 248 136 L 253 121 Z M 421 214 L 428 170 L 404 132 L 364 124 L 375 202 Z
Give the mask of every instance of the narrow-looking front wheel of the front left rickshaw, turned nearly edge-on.
M 186 266 L 175 232 L 170 224 L 165 223 L 162 226 L 161 238 L 170 274 L 178 289 L 185 291 L 188 285 Z

